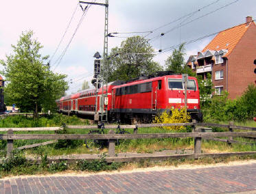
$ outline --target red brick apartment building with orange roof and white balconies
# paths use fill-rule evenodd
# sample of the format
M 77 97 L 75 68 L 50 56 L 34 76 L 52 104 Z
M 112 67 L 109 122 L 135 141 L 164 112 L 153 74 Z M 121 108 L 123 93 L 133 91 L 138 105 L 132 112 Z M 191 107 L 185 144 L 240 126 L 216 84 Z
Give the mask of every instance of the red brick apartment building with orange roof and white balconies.
M 220 31 L 198 55 L 189 57 L 187 66 L 204 79 L 210 73 L 215 94 L 226 90 L 233 99 L 255 84 L 255 59 L 256 25 L 248 16 L 246 23 Z

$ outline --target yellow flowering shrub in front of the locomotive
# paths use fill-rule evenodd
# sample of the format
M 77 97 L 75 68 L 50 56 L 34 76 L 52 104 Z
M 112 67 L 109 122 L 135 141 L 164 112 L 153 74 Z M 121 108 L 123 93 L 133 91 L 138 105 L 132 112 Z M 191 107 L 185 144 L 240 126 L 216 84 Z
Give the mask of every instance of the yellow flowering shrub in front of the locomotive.
M 156 115 L 154 123 L 186 123 L 189 122 L 191 116 L 186 113 L 185 109 L 171 109 L 170 113 L 164 111 L 160 115 Z M 185 130 L 185 126 L 166 126 L 164 127 L 168 130 Z

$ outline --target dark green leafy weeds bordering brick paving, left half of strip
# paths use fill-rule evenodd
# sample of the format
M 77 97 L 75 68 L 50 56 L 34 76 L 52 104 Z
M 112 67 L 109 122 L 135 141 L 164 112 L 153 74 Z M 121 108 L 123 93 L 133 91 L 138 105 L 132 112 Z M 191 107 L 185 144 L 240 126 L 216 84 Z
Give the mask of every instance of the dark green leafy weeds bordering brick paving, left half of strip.
M 47 155 L 43 154 L 40 163 L 27 161 L 25 154 L 14 151 L 10 158 L 1 158 L 0 178 L 7 175 L 21 174 L 45 174 L 56 173 L 59 171 L 80 170 L 80 171 L 110 171 L 122 167 L 123 163 L 106 163 L 106 154 L 102 154 L 100 160 L 86 161 L 81 160 L 77 163 L 67 163 L 65 160 L 49 162 Z

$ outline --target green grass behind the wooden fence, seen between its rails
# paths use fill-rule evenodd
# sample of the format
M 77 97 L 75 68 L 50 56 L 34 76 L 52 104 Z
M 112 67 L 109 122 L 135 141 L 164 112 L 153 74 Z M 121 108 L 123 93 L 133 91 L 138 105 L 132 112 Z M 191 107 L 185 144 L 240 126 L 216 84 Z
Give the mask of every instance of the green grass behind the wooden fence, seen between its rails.
M 28 118 L 25 119 L 23 116 L 11 117 L 8 119 L 10 123 L 8 126 L 13 126 L 17 124 L 20 127 L 25 126 L 42 126 L 42 124 L 47 124 L 47 126 L 60 126 L 63 122 L 73 125 L 88 124 L 88 120 L 81 120 L 78 117 L 67 117 L 66 115 L 56 115 L 54 117 L 40 118 L 38 122 Z M 27 122 L 27 123 L 26 123 Z M 36 123 L 36 124 L 35 124 Z M 256 122 L 255 122 L 256 123 Z M 0 121 L 0 126 L 3 125 L 3 120 Z M 5 120 L 5 126 L 6 126 Z M 253 122 L 246 123 L 237 123 L 237 125 L 245 126 L 255 126 Z M 133 133 L 132 129 L 126 129 L 129 133 Z M 226 131 L 226 128 L 213 128 L 213 131 Z M 191 127 L 188 127 L 187 130 L 183 132 L 190 132 Z M 54 134 L 54 131 L 19 131 L 14 133 L 30 133 L 30 134 Z M 87 134 L 89 129 L 71 129 L 67 128 L 67 132 L 70 134 Z M 104 130 L 104 133 L 108 133 L 108 129 Z M 172 131 L 165 128 L 139 128 L 138 133 L 172 133 Z M 239 140 L 243 142 L 251 142 L 253 140 L 244 139 L 244 138 L 234 138 L 234 140 Z M 25 145 L 30 145 L 34 143 L 41 143 L 49 140 L 16 140 L 14 141 L 14 148 L 18 148 Z M 6 142 L 0 142 L 0 148 L 5 147 Z M 58 144 L 58 145 L 56 145 Z M 137 153 L 152 153 L 152 152 L 161 152 L 163 150 L 187 150 L 194 148 L 194 139 L 193 138 L 165 138 L 165 139 L 126 139 L 119 140 L 116 146 L 116 152 L 137 152 Z M 27 155 L 36 155 L 38 154 L 39 148 L 30 148 L 24 150 Z M 54 143 L 48 146 L 40 146 L 40 152 L 46 153 L 48 156 L 58 156 L 62 154 L 100 154 L 106 152 L 107 148 L 97 149 L 95 148 L 86 148 L 84 145 L 84 140 L 60 140 L 59 143 Z M 203 140 L 202 141 L 202 152 L 212 153 L 212 152 L 243 152 L 243 151 L 256 151 L 255 146 L 242 145 L 240 143 L 234 143 L 232 146 L 229 146 L 228 143 L 216 142 Z M 0 156 L 3 156 L 4 153 L 0 153 Z

